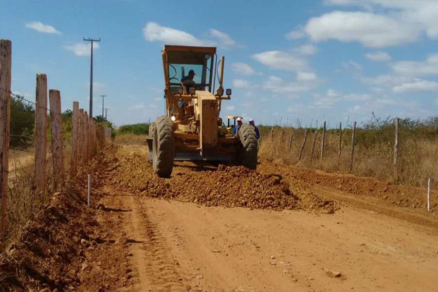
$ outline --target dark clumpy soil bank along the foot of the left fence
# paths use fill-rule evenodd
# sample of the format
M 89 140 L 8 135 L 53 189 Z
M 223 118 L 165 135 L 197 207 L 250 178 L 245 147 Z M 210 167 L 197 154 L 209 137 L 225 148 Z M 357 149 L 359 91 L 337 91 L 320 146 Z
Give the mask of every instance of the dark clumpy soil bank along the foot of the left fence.
M 105 153 L 115 153 L 114 149 L 110 146 Z M 104 195 L 98 187 L 110 161 L 111 157 L 99 154 L 75 180 L 50 197 L 26 224 L 20 238 L 8 244 L 0 255 L 0 291 L 77 291 L 84 283 L 104 290 L 118 287 L 117 273 L 125 269 L 128 260 L 114 260 L 111 253 L 106 254 L 114 240 L 109 239 L 112 235 L 101 233 L 95 220 L 95 213 L 102 212 L 96 211 L 97 202 Z M 93 185 L 91 208 L 87 207 L 85 188 L 88 173 Z M 96 253 L 106 258 L 91 267 L 89 259 Z

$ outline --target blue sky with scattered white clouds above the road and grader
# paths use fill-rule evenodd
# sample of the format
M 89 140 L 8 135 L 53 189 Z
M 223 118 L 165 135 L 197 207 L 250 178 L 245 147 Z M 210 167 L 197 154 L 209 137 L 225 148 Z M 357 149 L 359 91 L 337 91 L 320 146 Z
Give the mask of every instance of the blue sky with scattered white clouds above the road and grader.
M 257 124 L 329 127 L 438 113 L 438 1 L 2 0 L 0 38 L 12 40 L 12 90 L 35 99 L 37 73 L 62 108 L 100 94 L 115 125 L 164 114 L 161 49 L 214 45 L 225 55 L 221 116 Z

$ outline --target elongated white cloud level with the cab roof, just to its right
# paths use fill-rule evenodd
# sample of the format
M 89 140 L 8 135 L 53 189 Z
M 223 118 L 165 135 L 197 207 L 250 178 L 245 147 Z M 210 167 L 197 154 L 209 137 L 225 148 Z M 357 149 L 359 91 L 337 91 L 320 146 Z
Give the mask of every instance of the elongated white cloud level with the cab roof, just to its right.
M 281 51 L 263 52 L 252 57 L 271 69 L 303 71 L 307 68 L 306 59 Z

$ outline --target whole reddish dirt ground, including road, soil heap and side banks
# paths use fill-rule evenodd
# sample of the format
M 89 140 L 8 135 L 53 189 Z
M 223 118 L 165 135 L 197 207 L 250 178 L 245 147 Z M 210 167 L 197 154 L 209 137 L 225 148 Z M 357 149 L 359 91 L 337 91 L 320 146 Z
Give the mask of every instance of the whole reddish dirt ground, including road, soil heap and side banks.
M 257 171 L 176 163 L 172 177 L 160 179 L 146 153 L 109 146 L 54 195 L 2 254 L 0 290 L 433 291 L 438 285 L 436 205 L 426 213 L 422 205 L 397 204 L 398 190 L 420 200 L 424 189 L 389 185 L 381 192 L 385 183 L 372 179 L 264 159 Z

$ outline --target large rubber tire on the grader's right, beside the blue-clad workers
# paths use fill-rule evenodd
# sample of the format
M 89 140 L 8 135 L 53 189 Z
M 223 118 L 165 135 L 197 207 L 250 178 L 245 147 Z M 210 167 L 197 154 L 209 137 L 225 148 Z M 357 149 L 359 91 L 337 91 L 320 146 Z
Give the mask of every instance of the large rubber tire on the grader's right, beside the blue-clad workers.
M 237 139 L 240 145 L 237 148 L 237 161 L 249 169 L 257 168 L 257 138 L 256 130 L 251 125 L 241 125 L 237 128 Z

